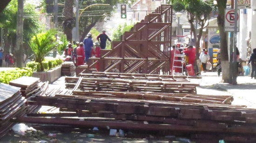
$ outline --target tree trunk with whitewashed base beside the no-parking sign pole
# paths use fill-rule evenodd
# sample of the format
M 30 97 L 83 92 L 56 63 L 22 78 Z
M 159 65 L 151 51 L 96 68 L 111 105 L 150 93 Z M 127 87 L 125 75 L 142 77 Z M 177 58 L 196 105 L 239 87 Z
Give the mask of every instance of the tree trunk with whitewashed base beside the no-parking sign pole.
M 222 82 L 229 82 L 229 54 L 227 33 L 224 31 L 224 9 L 227 0 L 217 0 L 219 10 L 218 25 L 220 29 L 220 47 L 221 47 L 221 65 L 222 65 Z

